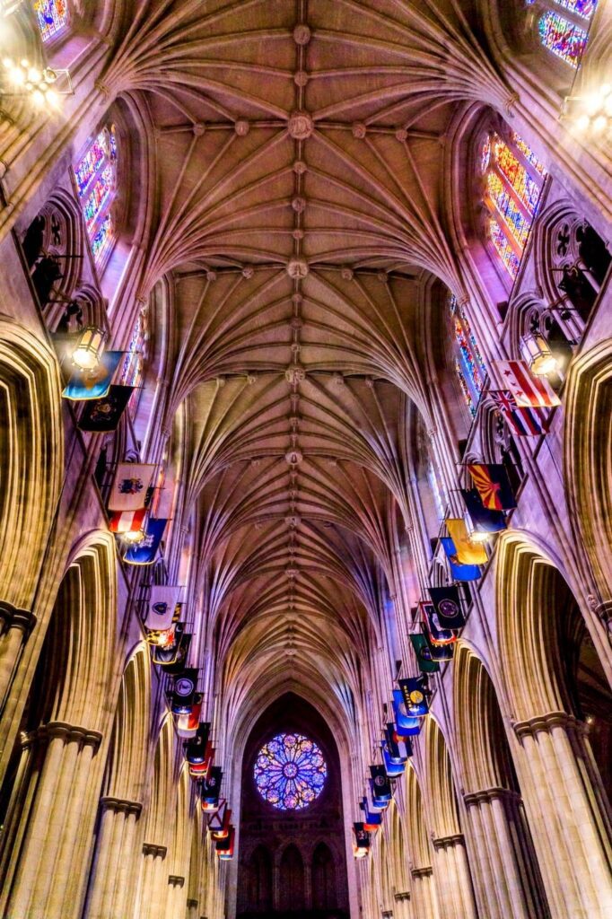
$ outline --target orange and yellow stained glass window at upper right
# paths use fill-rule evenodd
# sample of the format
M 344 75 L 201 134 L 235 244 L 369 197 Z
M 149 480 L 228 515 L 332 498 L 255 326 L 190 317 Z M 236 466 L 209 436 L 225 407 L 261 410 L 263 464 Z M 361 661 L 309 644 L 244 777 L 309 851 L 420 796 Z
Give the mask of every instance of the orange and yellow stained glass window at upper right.
M 545 166 L 516 132 L 487 134 L 480 150 L 486 231 L 514 281 L 547 176 Z

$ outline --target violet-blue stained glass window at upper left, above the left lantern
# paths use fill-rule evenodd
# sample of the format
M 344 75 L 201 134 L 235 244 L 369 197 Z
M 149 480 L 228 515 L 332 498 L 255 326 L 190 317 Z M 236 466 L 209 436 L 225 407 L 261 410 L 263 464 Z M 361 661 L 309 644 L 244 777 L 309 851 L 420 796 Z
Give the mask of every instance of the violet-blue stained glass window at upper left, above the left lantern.
M 74 167 L 91 250 L 100 264 L 115 239 L 111 211 L 117 188 L 117 137 L 115 129 L 104 128 Z

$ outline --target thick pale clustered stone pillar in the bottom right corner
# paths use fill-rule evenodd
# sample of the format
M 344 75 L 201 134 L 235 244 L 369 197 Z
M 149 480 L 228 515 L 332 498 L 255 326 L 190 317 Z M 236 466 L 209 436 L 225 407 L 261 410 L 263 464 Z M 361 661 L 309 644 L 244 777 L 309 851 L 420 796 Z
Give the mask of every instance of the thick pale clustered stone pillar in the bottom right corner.
M 553 919 L 612 915 L 612 845 L 586 727 L 565 712 L 514 724 Z

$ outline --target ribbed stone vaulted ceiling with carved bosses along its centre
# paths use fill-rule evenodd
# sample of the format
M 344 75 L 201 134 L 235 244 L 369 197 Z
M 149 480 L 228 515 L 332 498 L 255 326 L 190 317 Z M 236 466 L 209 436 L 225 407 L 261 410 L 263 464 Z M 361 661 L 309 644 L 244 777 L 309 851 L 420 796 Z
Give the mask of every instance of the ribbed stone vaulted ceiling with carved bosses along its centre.
M 431 406 L 424 290 L 460 289 L 448 127 L 510 95 L 474 21 L 469 0 L 155 0 L 104 77 L 154 126 L 143 290 L 171 279 L 167 414 L 185 407 L 199 576 L 239 695 L 355 691 L 380 645 L 406 419 Z

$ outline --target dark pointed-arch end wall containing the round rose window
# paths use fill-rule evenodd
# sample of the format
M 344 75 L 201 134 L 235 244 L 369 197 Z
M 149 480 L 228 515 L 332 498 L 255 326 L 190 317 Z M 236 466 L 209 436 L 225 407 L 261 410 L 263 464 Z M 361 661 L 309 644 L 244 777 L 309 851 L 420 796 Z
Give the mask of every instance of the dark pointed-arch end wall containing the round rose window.
M 286 736 L 286 743 L 278 740 Z M 271 766 L 262 765 L 267 762 L 261 753 L 264 748 Z M 296 783 L 285 782 L 283 765 L 289 775 L 297 773 Z M 323 777 L 322 785 L 317 775 Z M 248 739 L 241 814 L 237 909 L 241 919 L 263 915 L 339 919 L 348 914 L 340 762 L 334 737 L 321 715 L 292 693 L 266 709 Z

